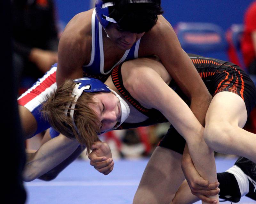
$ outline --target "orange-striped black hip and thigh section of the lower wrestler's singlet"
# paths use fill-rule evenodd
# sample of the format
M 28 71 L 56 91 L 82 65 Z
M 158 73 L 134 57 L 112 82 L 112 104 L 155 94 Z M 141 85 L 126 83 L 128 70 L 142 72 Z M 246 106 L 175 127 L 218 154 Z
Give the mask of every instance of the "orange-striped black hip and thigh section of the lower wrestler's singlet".
M 222 91 L 235 93 L 244 100 L 250 114 L 256 102 L 256 88 L 244 70 L 231 62 L 197 55 L 189 57 L 213 97 Z

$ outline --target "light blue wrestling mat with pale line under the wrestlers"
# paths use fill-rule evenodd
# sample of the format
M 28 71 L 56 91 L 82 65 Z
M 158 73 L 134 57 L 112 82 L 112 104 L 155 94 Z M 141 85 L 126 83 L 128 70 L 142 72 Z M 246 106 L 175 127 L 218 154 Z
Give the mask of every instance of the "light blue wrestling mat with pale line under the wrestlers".
M 217 171 L 233 166 L 235 159 L 216 159 Z M 25 183 L 27 204 L 131 204 L 147 159 L 116 160 L 114 170 L 104 176 L 88 161 L 76 160 L 53 181 L 36 179 Z M 196 202 L 199 204 L 201 202 Z M 230 202 L 223 202 L 230 203 Z M 247 197 L 239 204 L 255 204 Z

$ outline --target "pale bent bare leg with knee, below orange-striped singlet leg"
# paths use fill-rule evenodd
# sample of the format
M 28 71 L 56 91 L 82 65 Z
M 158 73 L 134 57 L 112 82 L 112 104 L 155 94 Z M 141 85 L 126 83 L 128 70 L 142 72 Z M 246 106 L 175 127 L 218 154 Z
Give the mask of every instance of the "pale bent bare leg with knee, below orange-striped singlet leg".
M 246 120 L 243 99 L 232 92 L 220 92 L 213 97 L 207 111 L 204 140 L 216 152 L 256 162 L 256 134 L 242 129 Z

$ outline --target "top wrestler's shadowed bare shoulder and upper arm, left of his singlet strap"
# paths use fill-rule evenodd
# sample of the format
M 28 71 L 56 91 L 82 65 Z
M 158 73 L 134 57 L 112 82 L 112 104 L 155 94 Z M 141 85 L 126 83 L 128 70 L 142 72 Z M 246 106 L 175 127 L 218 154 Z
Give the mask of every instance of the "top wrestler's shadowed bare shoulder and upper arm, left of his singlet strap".
M 89 11 L 77 14 L 70 20 L 64 32 L 60 37 L 58 47 L 58 66 L 56 72 L 57 86 L 65 79 L 77 79 L 83 77 L 82 66 L 87 63 L 91 57 L 91 30 L 88 23 L 91 20 Z M 87 17 L 88 19 L 85 19 Z M 79 25 L 83 22 L 88 24 L 82 29 Z

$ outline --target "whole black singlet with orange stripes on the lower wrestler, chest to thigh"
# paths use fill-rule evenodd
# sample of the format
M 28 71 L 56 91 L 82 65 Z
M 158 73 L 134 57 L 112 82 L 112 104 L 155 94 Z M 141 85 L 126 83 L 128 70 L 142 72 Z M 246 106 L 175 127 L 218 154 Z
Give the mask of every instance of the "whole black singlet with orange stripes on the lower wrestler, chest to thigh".
M 188 56 L 195 65 L 196 70 L 203 79 L 204 84 L 208 88 L 210 94 L 214 96 L 219 92 L 229 91 L 239 95 L 244 100 L 247 114 L 249 115 L 255 105 L 256 89 L 253 81 L 241 68 L 233 63 L 225 62 L 219 59 L 202 57 L 194 54 L 188 54 Z M 115 67 L 112 71 L 111 77 L 114 85 L 120 94 L 124 96 L 127 102 L 130 102 L 138 111 L 149 117 L 148 120 L 142 123 L 123 123 L 121 128 L 127 129 L 167 122 L 167 119 L 161 114 L 160 111 L 156 109 L 144 108 L 129 94 L 123 85 L 121 66 L 122 64 Z M 174 80 L 171 81 L 169 87 L 171 87 L 184 101 L 189 103 L 188 99 L 181 92 Z

